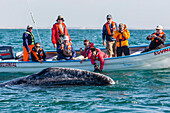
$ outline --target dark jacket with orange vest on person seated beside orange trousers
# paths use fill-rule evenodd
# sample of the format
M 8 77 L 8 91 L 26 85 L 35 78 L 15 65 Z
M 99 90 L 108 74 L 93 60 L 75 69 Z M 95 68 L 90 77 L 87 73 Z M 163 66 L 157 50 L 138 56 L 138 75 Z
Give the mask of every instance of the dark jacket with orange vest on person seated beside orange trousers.
M 38 57 L 38 59 L 37 59 Z M 39 51 L 36 51 L 35 47 L 31 51 L 31 59 L 34 62 L 38 62 L 38 60 L 43 59 L 44 61 L 46 60 L 46 54 L 43 49 L 39 49 Z

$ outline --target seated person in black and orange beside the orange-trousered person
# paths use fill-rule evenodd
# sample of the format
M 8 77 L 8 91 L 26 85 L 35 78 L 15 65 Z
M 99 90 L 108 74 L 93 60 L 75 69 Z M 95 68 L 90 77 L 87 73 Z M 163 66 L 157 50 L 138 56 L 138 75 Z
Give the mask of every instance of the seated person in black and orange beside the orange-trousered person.
M 31 59 L 34 62 L 40 62 L 46 60 L 46 54 L 43 49 L 40 48 L 40 43 L 36 43 L 35 47 L 31 51 Z

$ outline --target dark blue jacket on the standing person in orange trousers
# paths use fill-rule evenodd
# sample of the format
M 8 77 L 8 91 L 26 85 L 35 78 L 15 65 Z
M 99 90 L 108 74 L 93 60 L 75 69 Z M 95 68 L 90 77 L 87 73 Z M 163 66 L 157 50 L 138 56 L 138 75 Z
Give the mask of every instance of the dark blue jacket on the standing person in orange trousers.
M 23 46 L 25 46 L 27 51 L 30 51 L 29 45 L 35 44 L 34 35 L 31 32 L 26 30 L 23 33 L 22 39 L 23 39 Z

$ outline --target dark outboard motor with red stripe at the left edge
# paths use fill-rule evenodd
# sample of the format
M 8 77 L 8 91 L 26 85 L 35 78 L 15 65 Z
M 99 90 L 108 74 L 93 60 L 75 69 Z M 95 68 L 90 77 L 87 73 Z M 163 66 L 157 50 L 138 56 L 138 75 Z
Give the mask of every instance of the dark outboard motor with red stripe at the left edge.
M 13 47 L 11 46 L 0 46 L 0 59 L 14 59 Z

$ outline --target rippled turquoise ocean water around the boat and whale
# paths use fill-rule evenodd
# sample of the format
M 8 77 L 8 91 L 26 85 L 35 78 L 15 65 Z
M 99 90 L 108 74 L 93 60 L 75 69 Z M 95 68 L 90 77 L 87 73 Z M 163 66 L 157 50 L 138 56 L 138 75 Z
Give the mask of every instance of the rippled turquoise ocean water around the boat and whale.
M 14 52 L 22 51 L 24 29 L 1 29 L 0 46 L 11 45 Z M 130 45 L 149 44 L 146 37 L 154 30 L 130 30 Z M 170 30 L 164 31 L 170 43 Z M 39 42 L 35 34 L 35 40 Z M 69 30 L 75 49 L 89 39 L 102 46 L 101 30 Z M 54 50 L 50 29 L 40 29 L 45 50 Z M 10 70 L 9 70 L 10 71 Z M 31 73 L 0 73 L 0 83 Z M 116 84 L 110 86 L 22 87 L 0 88 L 0 113 L 114 113 L 170 112 L 170 69 L 148 71 L 115 71 L 103 73 Z

